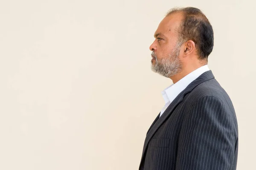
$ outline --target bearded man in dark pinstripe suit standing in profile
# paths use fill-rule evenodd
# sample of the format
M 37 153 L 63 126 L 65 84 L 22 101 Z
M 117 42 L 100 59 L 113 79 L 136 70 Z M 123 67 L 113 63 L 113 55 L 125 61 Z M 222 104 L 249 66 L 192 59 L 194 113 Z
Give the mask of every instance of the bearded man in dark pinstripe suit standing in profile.
M 235 170 L 233 104 L 207 66 L 213 30 L 198 8 L 172 9 L 150 46 L 152 70 L 173 81 L 147 132 L 139 170 Z

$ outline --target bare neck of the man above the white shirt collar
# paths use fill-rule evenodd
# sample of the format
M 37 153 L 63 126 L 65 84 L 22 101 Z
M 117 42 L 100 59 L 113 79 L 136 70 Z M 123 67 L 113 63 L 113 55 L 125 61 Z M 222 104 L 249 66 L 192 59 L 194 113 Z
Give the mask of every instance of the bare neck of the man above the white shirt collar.
M 192 71 L 195 71 L 196 69 L 198 69 L 204 65 L 207 65 L 207 63 L 196 64 L 196 65 L 187 65 L 187 66 L 183 65 L 182 71 L 180 71 L 180 73 L 176 74 L 175 76 L 170 77 L 170 79 L 172 79 L 173 84 L 175 84 L 176 82 L 180 81 L 180 79 L 182 79 L 183 77 L 185 77 Z

